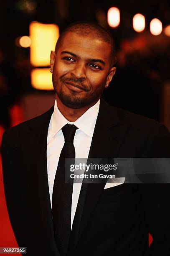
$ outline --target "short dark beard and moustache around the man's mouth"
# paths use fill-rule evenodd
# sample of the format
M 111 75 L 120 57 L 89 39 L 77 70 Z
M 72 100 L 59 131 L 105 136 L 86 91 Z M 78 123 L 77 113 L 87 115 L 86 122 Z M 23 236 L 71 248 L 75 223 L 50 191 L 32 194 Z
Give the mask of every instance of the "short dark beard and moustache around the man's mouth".
M 77 96 L 78 93 L 77 92 L 71 92 L 70 94 L 67 94 L 62 86 L 62 84 L 64 83 L 64 81 L 72 81 L 72 82 L 76 82 L 77 84 L 79 83 L 83 88 L 84 91 L 87 92 L 87 95 L 84 97 L 79 97 Z M 61 86 L 58 86 L 58 83 L 61 84 Z M 58 98 L 61 100 L 61 102 L 68 108 L 84 108 L 88 105 L 91 105 L 93 102 L 96 103 L 97 100 L 99 100 L 103 90 L 104 90 L 104 86 L 100 87 L 98 90 L 96 90 L 95 92 L 91 93 L 88 95 L 88 92 L 90 91 L 90 89 L 88 89 L 87 87 L 82 85 L 82 82 L 80 83 L 78 81 L 78 79 L 69 79 L 69 78 L 62 78 L 60 79 L 60 81 L 58 82 L 53 75 L 53 87 L 54 87 L 54 91 L 56 92 L 56 94 L 58 95 Z

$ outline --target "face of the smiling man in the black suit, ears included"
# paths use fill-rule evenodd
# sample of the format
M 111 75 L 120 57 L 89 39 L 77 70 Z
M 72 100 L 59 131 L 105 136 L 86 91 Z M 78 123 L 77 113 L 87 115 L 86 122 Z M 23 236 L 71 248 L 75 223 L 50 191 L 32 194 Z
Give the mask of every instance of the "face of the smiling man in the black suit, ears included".
M 109 44 L 71 32 L 51 52 L 51 68 L 56 98 L 69 108 L 95 104 L 116 69 L 110 67 Z

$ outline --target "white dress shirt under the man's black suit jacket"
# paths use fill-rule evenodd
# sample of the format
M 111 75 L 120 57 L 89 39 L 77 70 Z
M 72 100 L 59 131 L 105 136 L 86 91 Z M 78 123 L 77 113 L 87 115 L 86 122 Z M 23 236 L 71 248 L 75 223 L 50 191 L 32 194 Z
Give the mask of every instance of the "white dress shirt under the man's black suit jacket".
M 75 122 L 69 122 L 58 110 L 55 100 L 54 112 L 51 115 L 51 120 L 48 127 L 47 137 L 47 171 L 48 171 L 48 186 L 52 207 L 53 184 L 58 166 L 58 160 L 61 150 L 64 145 L 64 136 L 61 128 L 67 123 L 76 125 L 79 130 L 76 130 L 74 136 L 74 148 L 76 158 L 88 158 L 91 146 L 91 140 L 94 133 L 96 119 L 99 113 L 100 100 L 89 108 Z M 74 215 L 76 212 L 81 183 L 73 184 L 72 204 L 71 204 L 71 228 L 73 225 Z

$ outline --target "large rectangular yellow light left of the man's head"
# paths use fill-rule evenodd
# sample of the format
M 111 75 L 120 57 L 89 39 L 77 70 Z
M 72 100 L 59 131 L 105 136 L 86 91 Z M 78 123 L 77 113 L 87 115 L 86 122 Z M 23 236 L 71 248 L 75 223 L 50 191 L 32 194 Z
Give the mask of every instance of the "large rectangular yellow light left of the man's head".
M 55 24 L 30 23 L 30 63 L 34 67 L 49 66 L 50 52 L 55 49 L 59 28 Z

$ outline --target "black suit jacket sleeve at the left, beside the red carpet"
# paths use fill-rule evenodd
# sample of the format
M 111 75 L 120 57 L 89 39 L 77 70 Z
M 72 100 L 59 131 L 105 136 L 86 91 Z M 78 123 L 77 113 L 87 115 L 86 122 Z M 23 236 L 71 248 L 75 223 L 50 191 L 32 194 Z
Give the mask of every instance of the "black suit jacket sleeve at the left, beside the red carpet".
M 26 220 L 23 201 L 20 193 L 20 181 L 13 168 L 8 144 L 8 131 L 3 134 L 2 140 L 3 183 L 6 205 L 10 223 L 19 247 L 26 247 Z M 10 245 L 9 245 L 10 246 Z

